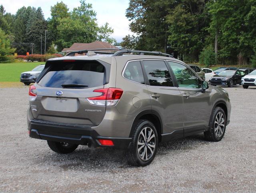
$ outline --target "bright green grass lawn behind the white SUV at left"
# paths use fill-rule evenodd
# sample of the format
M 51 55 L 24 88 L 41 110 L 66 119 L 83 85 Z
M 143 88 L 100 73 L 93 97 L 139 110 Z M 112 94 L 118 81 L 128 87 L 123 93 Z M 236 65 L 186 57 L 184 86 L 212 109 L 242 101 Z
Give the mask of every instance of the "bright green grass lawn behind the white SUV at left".
M 45 62 L 20 62 L 0 64 L 0 82 L 20 82 L 20 73 L 30 71 Z

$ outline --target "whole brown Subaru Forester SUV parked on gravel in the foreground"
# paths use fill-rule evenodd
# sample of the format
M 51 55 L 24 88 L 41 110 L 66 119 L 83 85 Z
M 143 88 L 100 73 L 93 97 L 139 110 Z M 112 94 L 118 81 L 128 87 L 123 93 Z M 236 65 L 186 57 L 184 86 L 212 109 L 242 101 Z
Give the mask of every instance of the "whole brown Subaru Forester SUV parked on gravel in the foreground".
M 160 142 L 200 132 L 222 139 L 231 108 L 225 90 L 169 54 L 101 50 L 47 60 L 29 89 L 30 137 L 57 153 L 78 145 L 125 148 L 136 166 L 151 163 Z

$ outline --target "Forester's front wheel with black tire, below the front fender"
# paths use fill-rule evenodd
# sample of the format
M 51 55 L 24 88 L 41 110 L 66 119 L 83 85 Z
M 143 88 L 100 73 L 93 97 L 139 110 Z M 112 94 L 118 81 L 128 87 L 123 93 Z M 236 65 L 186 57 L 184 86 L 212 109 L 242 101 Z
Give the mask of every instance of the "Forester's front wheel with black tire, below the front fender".
M 210 119 L 210 128 L 204 132 L 204 137 L 208 141 L 220 141 L 226 131 L 226 114 L 221 107 L 215 107 Z

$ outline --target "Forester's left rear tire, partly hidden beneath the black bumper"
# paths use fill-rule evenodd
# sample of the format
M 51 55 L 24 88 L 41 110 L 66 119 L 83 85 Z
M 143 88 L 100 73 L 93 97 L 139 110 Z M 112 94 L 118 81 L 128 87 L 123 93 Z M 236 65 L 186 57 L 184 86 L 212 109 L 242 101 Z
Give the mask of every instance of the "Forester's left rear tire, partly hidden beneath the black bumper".
M 47 141 L 49 147 L 52 151 L 56 153 L 71 153 L 76 150 L 78 145 L 76 144 L 69 144 L 69 143 L 62 143 L 62 142 L 55 142 L 55 141 Z

